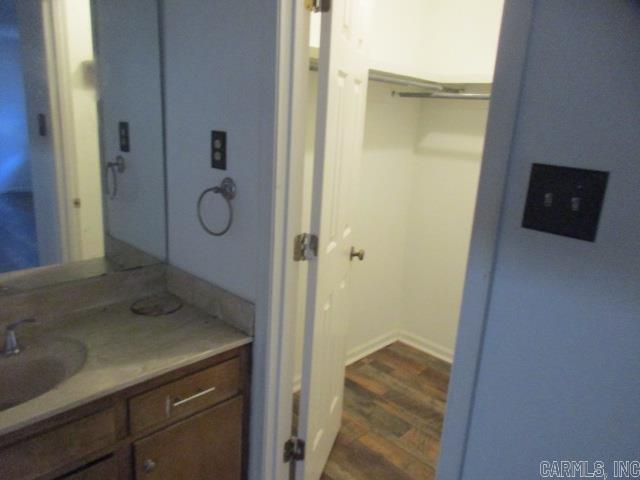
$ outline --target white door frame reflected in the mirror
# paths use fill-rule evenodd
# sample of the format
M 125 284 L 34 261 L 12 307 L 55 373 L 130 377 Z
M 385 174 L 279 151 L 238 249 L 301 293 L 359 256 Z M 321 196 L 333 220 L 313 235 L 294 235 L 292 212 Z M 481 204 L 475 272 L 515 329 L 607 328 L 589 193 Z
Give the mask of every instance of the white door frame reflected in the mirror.
M 91 0 L 84 2 L 84 6 L 90 12 Z M 74 102 L 82 101 L 84 92 L 77 91 L 78 88 L 74 86 L 74 81 L 68 74 L 72 70 L 69 2 L 42 0 L 42 8 L 51 106 L 51 136 L 56 165 L 61 261 L 66 263 L 104 254 L 98 111 L 95 102 L 83 102 L 84 108 L 91 109 L 91 113 L 87 112 L 87 115 L 95 124 L 95 132 L 91 131 L 91 123 L 86 124 L 86 119 L 78 124 L 74 118 L 74 109 L 77 108 Z M 93 41 L 91 36 L 90 40 Z M 91 61 L 94 61 L 93 56 Z M 86 72 L 84 74 L 87 75 Z M 96 85 L 92 88 L 95 89 Z M 83 132 L 82 128 L 89 131 Z M 86 135 L 87 133 L 95 136 Z M 93 168 L 82 167 L 85 158 L 82 155 L 87 154 L 95 155 L 96 164 Z M 87 192 L 98 192 L 97 200 L 93 195 L 83 195 Z M 90 196 L 92 198 L 89 198 Z M 76 206 L 76 201 L 81 201 L 82 204 Z

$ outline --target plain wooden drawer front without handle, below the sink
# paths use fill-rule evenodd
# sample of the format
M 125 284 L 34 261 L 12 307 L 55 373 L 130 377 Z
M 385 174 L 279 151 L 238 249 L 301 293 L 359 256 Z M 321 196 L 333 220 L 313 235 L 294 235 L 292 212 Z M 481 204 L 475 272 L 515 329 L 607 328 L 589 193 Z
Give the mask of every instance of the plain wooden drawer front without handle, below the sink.
M 115 442 L 116 415 L 108 409 L 0 449 L 0 478 L 37 478 Z

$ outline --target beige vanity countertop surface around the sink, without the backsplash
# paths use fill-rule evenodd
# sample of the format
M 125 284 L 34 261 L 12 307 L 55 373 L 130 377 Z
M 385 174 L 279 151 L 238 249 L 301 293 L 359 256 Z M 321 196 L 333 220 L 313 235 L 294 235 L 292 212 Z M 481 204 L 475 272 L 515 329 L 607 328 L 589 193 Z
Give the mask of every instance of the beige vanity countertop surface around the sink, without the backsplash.
M 87 358 L 78 373 L 54 389 L 0 412 L 0 436 L 252 342 L 252 337 L 187 304 L 159 317 L 136 315 L 130 305 L 24 326 L 18 341 L 20 333 L 25 338 L 72 338 L 86 346 Z

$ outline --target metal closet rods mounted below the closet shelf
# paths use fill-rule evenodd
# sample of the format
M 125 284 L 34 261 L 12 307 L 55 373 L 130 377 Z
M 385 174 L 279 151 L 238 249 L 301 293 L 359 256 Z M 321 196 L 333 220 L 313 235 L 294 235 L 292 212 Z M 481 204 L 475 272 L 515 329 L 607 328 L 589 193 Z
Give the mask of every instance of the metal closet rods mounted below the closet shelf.
M 318 59 L 309 59 L 309 70 L 318 71 Z M 445 87 L 444 85 L 421 80 L 419 78 L 405 77 L 404 75 L 396 75 L 393 73 L 382 72 L 380 70 L 369 70 L 369 80 L 374 82 L 387 83 L 400 87 L 424 88 L 428 92 L 393 92 L 401 98 L 441 98 L 441 99 L 458 99 L 458 100 L 490 100 L 490 93 L 468 93 L 461 90 Z

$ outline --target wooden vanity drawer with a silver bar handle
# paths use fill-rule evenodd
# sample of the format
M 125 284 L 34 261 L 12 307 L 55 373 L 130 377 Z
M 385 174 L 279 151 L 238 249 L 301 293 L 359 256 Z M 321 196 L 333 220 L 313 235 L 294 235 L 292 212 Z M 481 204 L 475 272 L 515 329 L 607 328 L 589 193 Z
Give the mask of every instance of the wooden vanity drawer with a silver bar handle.
M 241 390 L 240 368 L 235 357 L 131 398 L 131 433 L 185 418 L 233 397 Z

